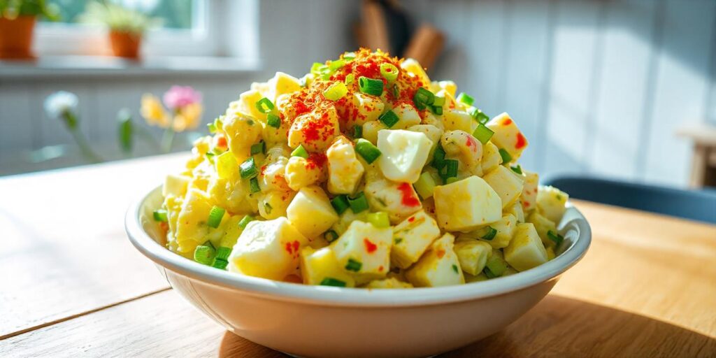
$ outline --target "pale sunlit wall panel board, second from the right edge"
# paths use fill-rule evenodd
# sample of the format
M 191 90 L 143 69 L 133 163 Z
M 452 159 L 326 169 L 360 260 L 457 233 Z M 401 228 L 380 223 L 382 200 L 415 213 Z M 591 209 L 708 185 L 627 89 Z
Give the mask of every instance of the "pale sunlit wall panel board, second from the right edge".
M 622 179 L 636 175 L 642 148 L 634 134 L 641 129 L 656 8 L 649 1 L 609 3 L 595 126 L 589 131 L 592 173 Z

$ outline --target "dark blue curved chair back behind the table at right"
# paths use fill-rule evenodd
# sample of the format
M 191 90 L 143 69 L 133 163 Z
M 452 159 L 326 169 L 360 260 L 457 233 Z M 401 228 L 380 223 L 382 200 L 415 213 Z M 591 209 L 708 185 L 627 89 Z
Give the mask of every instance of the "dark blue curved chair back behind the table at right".
M 571 198 L 716 224 L 716 190 L 682 190 L 581 176 L 544 182 Z

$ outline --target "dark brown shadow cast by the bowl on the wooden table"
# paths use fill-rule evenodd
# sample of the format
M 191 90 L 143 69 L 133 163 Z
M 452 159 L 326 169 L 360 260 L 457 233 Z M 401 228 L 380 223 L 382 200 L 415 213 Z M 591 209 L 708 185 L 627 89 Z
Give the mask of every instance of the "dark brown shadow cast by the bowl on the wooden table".
M 549 295 L 502 332 L 440 357 L 715 356 L 714 338 L 658 319 Z M 219 357 L 287 356 L 226 332 Z

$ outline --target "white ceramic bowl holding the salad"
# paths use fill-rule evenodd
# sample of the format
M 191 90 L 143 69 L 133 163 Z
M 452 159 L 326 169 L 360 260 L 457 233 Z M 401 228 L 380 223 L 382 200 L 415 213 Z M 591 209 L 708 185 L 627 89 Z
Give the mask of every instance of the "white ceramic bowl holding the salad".
M 304 286 L 220 271 L 168 251 L 152 212 L 160 188 L 127 211 L 132 244 L 173 288 L 213 320 L 266 347 L 301 357 L 427 357 L 500 331 L 543 299 L 591 242 L 584 216 L 569 205 L 558 256 L 499 279 L 429 289 Z

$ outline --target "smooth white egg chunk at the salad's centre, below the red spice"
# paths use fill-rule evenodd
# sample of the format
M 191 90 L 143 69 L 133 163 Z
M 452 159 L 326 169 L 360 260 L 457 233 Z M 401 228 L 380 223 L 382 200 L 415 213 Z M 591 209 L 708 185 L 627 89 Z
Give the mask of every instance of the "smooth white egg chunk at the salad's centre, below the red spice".
M 432 140 L 427 135 L 410 130 L 381 130 L 378 132 L 380 169 L 397 182 L 415 183 L 430 154 Z

